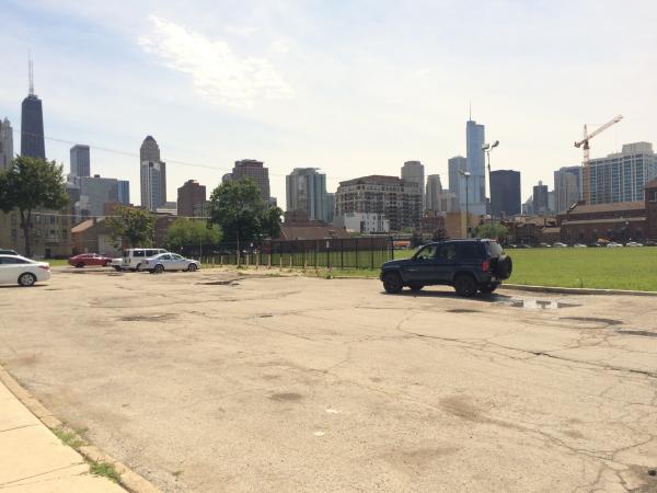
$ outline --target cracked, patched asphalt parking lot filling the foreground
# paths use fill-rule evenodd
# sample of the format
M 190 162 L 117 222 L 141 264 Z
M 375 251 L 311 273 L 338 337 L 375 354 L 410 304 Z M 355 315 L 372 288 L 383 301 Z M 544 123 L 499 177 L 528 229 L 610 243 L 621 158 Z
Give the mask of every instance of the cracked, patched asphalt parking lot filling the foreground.
M 65 268 L 0 309 L 5 368 L 163 491 L 657 491 L 657 298 Z

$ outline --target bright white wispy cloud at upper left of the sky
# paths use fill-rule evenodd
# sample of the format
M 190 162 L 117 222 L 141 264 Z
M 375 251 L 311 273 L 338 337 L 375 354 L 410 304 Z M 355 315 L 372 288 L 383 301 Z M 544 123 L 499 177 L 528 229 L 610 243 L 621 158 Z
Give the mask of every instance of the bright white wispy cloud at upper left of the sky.
M 240 57 L 228 43 L 211 41 L 157 15 L 139 44 L 169 68 L 192 76 L 198 94 L 215 104 L 252 107 L 257 99 L 293 95 L 283 76 L 264 58 Z

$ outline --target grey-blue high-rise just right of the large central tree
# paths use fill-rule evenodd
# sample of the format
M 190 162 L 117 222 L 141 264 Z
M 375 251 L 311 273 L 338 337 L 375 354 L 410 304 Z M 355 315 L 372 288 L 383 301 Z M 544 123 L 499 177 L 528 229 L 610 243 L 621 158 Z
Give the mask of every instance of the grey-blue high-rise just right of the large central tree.
M 295 168 L 285 179 L 286 210 L 304 211 L 310 220 L 328 221 L 326 175 L 316 168 Z

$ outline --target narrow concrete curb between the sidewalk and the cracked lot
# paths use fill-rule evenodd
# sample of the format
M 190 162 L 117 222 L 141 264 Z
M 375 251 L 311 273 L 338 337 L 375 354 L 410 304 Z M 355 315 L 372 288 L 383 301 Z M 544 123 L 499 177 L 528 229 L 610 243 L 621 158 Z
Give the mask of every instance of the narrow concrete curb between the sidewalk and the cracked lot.
M 21 403 L 27 408 L 27 410 L 34 414 L 48 429 L 54 432 L 55 429 L 64 429 L 66 432 L 74 434 L 73 439 L 85 443 L 85 440 L 78 435 L 74 429 L 67 427 L 61 421 L 50 413 L 41 402 L 36 400 L 27 390 L 7 371 L 2 365 L 0 365 L 0 381 L 9 389 Z M 114 457 L 105 454 L 100 448 L 93 445 L 83 445 L 78 448 L 71 447 L 78 454 L 82 455 L 87 460 L 92 462 L 107 462 L 114 466 L 116 472 L 120 474 L 120 486 L 131 493 L 161 493 L 155 486 L 153 486 L 143 477 L 129 469 L 123 462 L 119 462 Z

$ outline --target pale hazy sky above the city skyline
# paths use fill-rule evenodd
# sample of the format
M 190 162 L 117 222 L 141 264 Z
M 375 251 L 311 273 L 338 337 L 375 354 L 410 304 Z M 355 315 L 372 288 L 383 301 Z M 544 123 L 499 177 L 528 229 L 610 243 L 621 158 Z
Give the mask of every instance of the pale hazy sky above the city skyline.
M 258 159 L 284 208 L 300 167 L 334 192 L 419 160 L 447 187 L 470 104 L 523 199 L 581 162 L 585 123 L 624 116 L 591 157 L 657 144 L 653 0 L 0 0 L 0 118 L 20 130 L 31 50 L 47 158 L 68 172 L 70 142 L 90 145 L 92 173 L 129 180 L 136 204 L 147 135 L 170 200 Z

